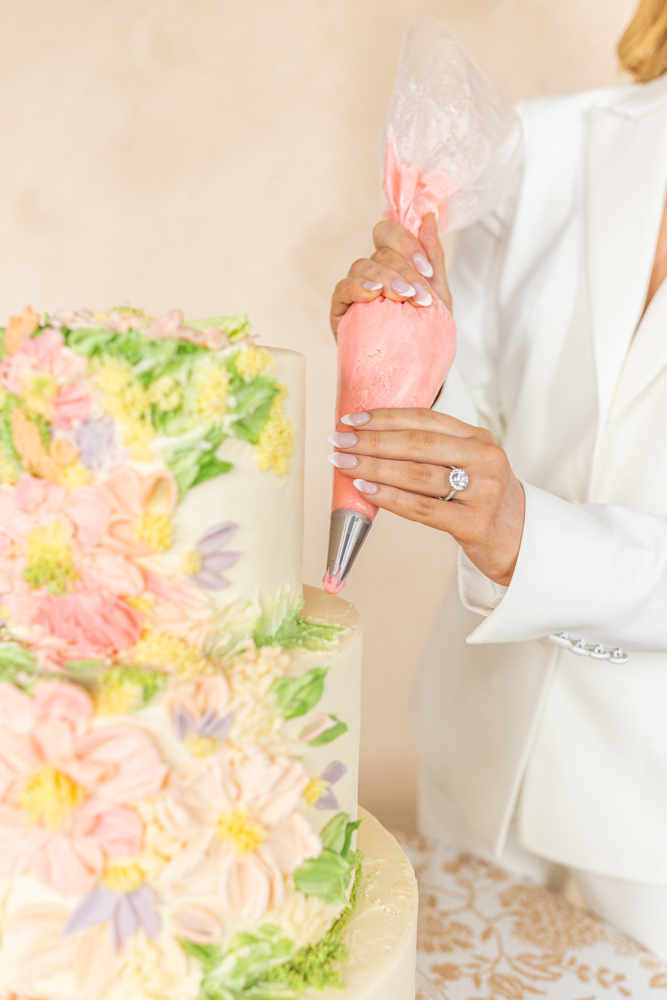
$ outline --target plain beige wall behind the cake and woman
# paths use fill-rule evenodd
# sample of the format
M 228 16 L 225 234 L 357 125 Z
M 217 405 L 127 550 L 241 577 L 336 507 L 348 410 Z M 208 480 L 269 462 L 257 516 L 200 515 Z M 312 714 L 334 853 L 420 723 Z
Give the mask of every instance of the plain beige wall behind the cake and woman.
M 305 578 L 328 531 L 331 289 L 380 211 L 400 40 L 438 17 L 511 99 L 617 79 L 633 0 L 3 0 L 0 315 L 129 300 L 247 311 L 308 357 Z M 453 565 L 381 515 L 346 596 L 366 623 L 361 796 L 410 827 L 408 699 Z

